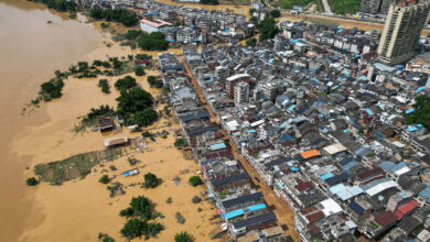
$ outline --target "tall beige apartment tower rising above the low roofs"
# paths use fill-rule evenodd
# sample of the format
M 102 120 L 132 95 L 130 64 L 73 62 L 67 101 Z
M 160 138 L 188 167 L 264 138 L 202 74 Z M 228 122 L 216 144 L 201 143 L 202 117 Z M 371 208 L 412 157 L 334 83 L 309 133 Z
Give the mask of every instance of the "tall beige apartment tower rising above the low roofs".
M 389 7 L 378 46 L 380 62 L 397 65 L 415 56 L 429 10 L 429 1 L 418 0 L 397 0 Z

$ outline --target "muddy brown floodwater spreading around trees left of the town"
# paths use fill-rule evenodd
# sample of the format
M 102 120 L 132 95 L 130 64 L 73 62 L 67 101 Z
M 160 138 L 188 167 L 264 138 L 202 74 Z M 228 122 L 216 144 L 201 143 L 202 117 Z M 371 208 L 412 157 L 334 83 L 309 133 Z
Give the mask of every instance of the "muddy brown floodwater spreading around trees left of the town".
M 131 197 L 139 195 L 148 196 L 157 205 L 155 209 L 165 215 L 160 221 L 165 230 L 154 241 L 172 241 L 182 230 L 191 232 L 196 241 L 207 241 L 208 232 L 216 228 L 208 218 L 216 210 L 208 202 L 191 202 L 193 196 L 204 190 L 203 186 L 194 188 L 186 183 L 198 166 L 171 147 L 172 134 L 166 140 L 148 143 L 149 150 L 136 155 L 144 166 L 141 173 L 151 172 L 164 180 L 157 189 L 128 187 L 142 182 L 141 175 L 117 177 L 116 180 L 127 186 L 127 193 L 109 198 L 106 185 L 98 183 L 100 167 L 83 180 L 62 186 L 25 186 L 25 179 L 34 176 L 32 168 L 39 163 L 103 150 L 100 133 L 75 134 L 72 129 L 77 123 L 76 118 L 90 108 L 115 107 L 119 95 L 115 90 L 110 95 L 103 94 L 97 87 L 98 78 L 68 78 L 61 99 L 22 114 L 22 108 L 36 97 L 40 85 L 52 78 L 54 70 L 66 70 L 80 61 L 143 53 L 112 43 L 108 32 L 95 28 L 99 23 L 85 21 L 82 15 L 69 20 L 66 13 L 26 0 L 0 0 L 0 241 L 97 241 L 99 232 L 122 241 L 119 230 L 125 219 L 118 212 L 128 206 Z M 179 54 L 181 50 L 172 52 Z M 155 56 L 158 53 L 147 54 Z M 147 73 L 159 75 L 157 70 Z M 112 86 L 120 77 L 99 78 L 107 78 Z M 152 95 L 159 92 L 148 86 L 147 77 L 137 79 Z M 179 129 L 178 125 L 166 128 L 165 122 L 168 120 L 162 119 L 151 129 L 154 132 Z M 115 163 L 118 172 L 130 168 L 126 158 Z M 189 172 L 183 173 L 184 169 Z M 182 183 L 174 186 L 171 180 L 176 176 Z M 168 197 L 173 199 L 172 205 L 165 204 Z M 197 207 L 202 211 L 198 212 Z M 176 211 L 184 216 L 184 224 L 176 222 Z

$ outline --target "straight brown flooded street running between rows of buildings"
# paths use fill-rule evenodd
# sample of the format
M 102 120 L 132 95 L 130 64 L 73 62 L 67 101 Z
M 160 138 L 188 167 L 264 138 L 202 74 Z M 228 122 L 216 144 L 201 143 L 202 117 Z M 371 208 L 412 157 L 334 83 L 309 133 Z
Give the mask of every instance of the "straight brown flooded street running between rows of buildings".
M 205 99 L 202 89 L 200 88 L 196 79 L 192 75 L 191 69 L 186 65 L 185 62 L 184 62 L 184 66 L 185 66 L 186 73 L 191 77 L 194 90 L 197 92 L 197 95 L 198 95 L 200 99 L 202 100 L 204 107 L 211 113 L 211 120 L 213 122 L 219 123 L 219 120 L 216 118 L 216 114 L 212 111 L 211 107 L 206 103 L 207 100 Z M 241 166 L 245 168 L 246 173 L 248 173 L 248 175 L 251 177 L 252 183 L 258 185 L 257 186 L 257 188 L 258 188 L 257 190 L 261 191 L 265 195 L 266 204 L 277 215 L 278 224 L 279 226 L 287 226 L 288 229 L 286 230 L 284 235 L 291 237 L 293 239 L 293 241 L 300 241 L 299 232 L 294 229 L 294 226 L 293 226 L 293 223 L 294 223 L 294 213 L 292 212 L 292 210 L 288 206 L 283 205 L 284 202 L 280 198 L 278 198 L 276 196 L 276 194 L 275 194 L 272 188 L 266 186 L 264 183 L 258 183 L 256 180 L 256 177 L 258 177 L 259 180 L 264 180 L 264 179 L 259 176 L 257 170 L 248 163 L 248 161 L 245 157 L 241 156 L 239 150 L 237 148 L 236 144 L 230 140 L 229 135 L 227 135 L 227 133 L 225 133 L 224 130 L 222 131 L 222 133 L 223 133 L 223 140 L 227 141 L 229 146 L 232 147 L 232 152 L 235 155 L 235 158 L 237 161 L 239 161 Z

